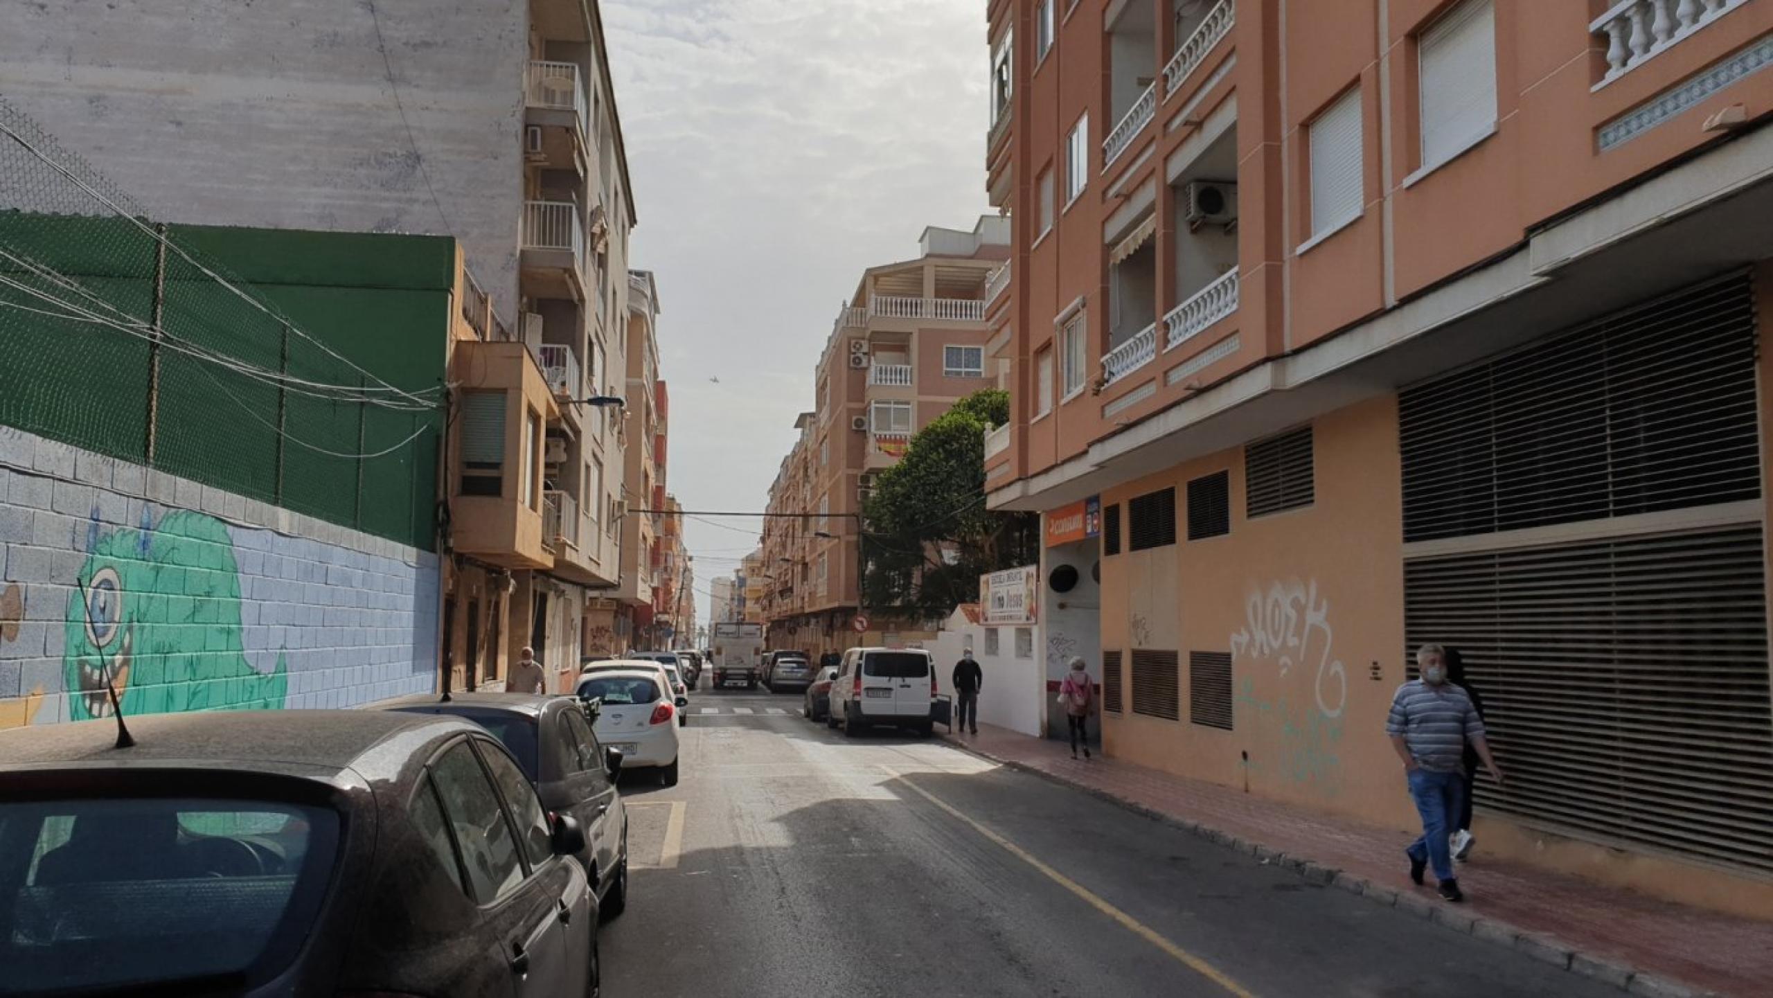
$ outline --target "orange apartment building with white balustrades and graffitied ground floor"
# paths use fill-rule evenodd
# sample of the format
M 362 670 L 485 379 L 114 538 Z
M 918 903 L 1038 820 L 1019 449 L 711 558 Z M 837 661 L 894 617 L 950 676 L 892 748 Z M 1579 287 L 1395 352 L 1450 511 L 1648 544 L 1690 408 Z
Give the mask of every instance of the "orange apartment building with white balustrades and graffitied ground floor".
M 1773 2 L 986 7 L 989 503 L 1106 752 L 1410 828 L 1441 642 L 1482 849 L 1773 911 Z

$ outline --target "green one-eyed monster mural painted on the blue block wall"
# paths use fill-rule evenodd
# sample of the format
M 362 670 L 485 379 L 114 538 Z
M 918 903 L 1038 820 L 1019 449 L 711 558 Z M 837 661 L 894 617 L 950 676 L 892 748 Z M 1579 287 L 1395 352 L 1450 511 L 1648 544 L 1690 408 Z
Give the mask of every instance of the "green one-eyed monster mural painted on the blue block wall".
M 158 525 L 144 512 L 138 530 L 108 534 L 94 519 L 64 647 L 76 721 L 112 713 L 101 667 L 124 716 L 280 709 L 289 688 L 284 656 L 271 674 L 246 661 L 234 541 L 200 512 L 168 512 Z

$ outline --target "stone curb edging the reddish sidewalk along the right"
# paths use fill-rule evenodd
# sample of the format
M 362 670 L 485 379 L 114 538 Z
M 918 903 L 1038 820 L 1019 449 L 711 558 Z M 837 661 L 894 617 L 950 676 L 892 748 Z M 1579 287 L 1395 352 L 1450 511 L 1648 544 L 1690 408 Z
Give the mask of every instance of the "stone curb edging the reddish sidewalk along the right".
M 1246 856 L 1255 856 L 1262 863 L 1293 870 L 1300 877 L 1310 883 L 1337 886 L 1353 895 L 1365 897 L 1374 904 L 1381 904 L 1385 908 L 1395 908 L 1399 911 L 1408 911 L 1417 918 L 1425 918 L 1438 925 L 1445 925 L 1454 932 L 1477 936 L 1479 940 L 1507 947 L 1514 952 L 1550 963 L 1551 966 L 1558 966 L 1571 973 L 1578 973 L 1582 977 L 1590 977 L 1594 980 L 1612 984 L 1613 987 L 1619 987 L 1626 994 L 1640 994 L 1644 998 L 1725 998 L 1716 991 L 1690 987 L 1686 984 L 1679 984 L 1675 980 L 1656 977 L 1652 973 L 1640 971 L 1622 963 L 1615 963 L 1612 957 L 1583 952 L 1576 948 L 1573 943 L 1558 940 L 1557 936 L 1551 936 L 1548 932 L 1534 932 L 1512 925 L 1509 922 L 1486 918 L 1482 915 L 1473 915 L 1466 908 L 1456 908 L 1443 904 L 1440 901 L 1431 901 L 1415 892 L 1399 892 L 1395 886 L 1381 885 L 1360 874 L 1351 874 L 1347 870 L 1326 867 L 1323 863 L 1307 860 L 1303 856 L 1293 856 L 1282 853 L 1280 849 L 1262 846 L 1261 842 L 1252 842 L 1239 835 L 1232 835 L 1229 831 L 1206 826 L 1199 821 L 1177 817 L 1174 814 L 1165 814 L 1156 808 L 1145 807 L 1138 801 L 1129 801 L 1110 791 L 1103 791 L 1089 784 L 1080 784 L 1076 780 L 1069 780 L 1057 773 L 1048 773 L 1046 769 L 1041 769 L 1037 766 L 1030 766 L 1016 759 L 1004 759 L 1000 755 L 993 755 L 982 748 L 956 739 L 952 734 L 943 736 L 943 741 L 959 748 L 961 752 L 966 752 L 968 755 L 977 755 L 979 759 L 988 759 L 1000 766 L 1007 766 L 1021 773 L 1041 776 L 1043 780 L 1058 784 L 1060 787 L 1082 791 L 1083 794 L 1112 803 L 1119 808 L 1129 810 L 1142 817 L 1149 817 L 1156 823 L 1168 824 L 1170 828 L 1199 835 L 1207 842 L 1225 846 L 1227 849 L 1234 849 Z

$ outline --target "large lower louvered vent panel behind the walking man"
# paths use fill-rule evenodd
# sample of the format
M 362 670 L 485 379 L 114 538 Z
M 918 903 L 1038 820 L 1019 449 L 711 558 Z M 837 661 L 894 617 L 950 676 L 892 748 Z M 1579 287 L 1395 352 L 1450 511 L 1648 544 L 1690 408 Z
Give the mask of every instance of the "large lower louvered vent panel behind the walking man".
M 1411 560 L 1404 628 L 1484 700 L 1479 805 L 1773 872 L 1761 526 Z

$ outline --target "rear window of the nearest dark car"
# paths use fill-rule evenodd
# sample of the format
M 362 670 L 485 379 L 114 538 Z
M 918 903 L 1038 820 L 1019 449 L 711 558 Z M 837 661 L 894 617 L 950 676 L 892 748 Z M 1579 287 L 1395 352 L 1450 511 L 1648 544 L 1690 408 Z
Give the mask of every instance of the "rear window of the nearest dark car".
M 337 840 L 335 812 L 289 803 L 0 803 L 0 994 L 262 980 L 312 931 Z

